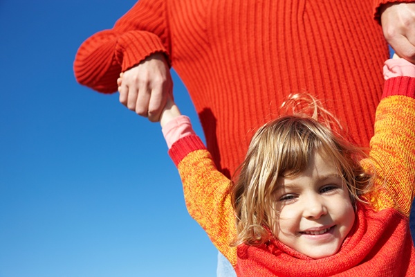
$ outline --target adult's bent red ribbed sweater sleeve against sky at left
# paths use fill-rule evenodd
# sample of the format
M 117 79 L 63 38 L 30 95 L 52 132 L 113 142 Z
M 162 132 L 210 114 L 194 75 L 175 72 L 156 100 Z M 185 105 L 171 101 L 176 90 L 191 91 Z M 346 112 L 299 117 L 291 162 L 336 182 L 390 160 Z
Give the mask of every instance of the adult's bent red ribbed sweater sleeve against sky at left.
M 96 91 L 113 93 L 118 89 L 120 72 L 157 52 L 165 53 L 169 60 L 165 6 L 165 0 L 140 0 L 112 29 L 86 39 L 73 64 L 77 81 Z

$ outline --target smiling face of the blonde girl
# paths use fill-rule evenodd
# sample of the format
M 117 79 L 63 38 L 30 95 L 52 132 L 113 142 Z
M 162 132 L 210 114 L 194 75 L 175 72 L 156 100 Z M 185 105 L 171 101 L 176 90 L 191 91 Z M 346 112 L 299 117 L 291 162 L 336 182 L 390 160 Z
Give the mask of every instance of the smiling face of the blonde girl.
M 304 172 L 279 180 L 272 212 L 278 240 L 315 259 L 337 253 L 355 220 L 346 184 L 323 157 L 316 152 Z

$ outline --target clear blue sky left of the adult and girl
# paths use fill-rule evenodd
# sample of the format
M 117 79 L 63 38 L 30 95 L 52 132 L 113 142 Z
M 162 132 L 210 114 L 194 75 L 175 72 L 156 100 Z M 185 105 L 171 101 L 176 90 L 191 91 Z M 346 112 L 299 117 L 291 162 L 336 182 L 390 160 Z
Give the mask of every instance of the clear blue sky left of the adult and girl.
M 133 3 L 0 1 L 0 277 L 215 276 L 159 125 L 73 77 Z

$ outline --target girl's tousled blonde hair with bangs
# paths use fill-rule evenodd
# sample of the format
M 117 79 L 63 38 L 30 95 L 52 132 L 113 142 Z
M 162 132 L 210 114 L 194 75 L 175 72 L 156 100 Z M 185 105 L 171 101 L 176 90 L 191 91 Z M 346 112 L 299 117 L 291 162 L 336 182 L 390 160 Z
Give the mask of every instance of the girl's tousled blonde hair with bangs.
M 372 186 L 360 160 L 362 149 L 340 136 L 338 120 L 320 102 L 308 95 L 294 95 L 283 104 L 285 115 L 259 128 L 250 141 L 246 159 L 239 166 L 231 190 L 237 216 L 237 238 L 242 243 L 259 245 L 270 239 L 270 211 L 279 177 L 296 177 L 306 170 L 318 151 L 333 159 L 347 184 L 353 206 Z

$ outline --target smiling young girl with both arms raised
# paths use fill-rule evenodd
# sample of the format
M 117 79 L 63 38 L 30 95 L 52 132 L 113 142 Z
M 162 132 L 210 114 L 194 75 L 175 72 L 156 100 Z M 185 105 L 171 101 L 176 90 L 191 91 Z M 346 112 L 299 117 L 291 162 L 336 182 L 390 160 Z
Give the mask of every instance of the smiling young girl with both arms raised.
M 238 276 L 415 276 L 415 66 L 388 60 L 384 73 L 369 157 L 330 120 L 282 116 L 256 132 L 232 186 L 167 103 L 187 209 Z

